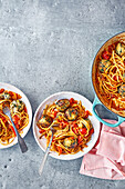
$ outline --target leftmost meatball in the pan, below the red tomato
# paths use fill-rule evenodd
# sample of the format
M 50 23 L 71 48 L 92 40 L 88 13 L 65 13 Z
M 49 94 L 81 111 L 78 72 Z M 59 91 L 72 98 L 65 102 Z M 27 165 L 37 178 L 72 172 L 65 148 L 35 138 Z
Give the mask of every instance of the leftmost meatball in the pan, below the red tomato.
M 101 72 L 105 72 L 107 68 L 110 68 L 110 66 L 111 66 L 110 60 L 102 59 L 98 63 L 98 70 Z

